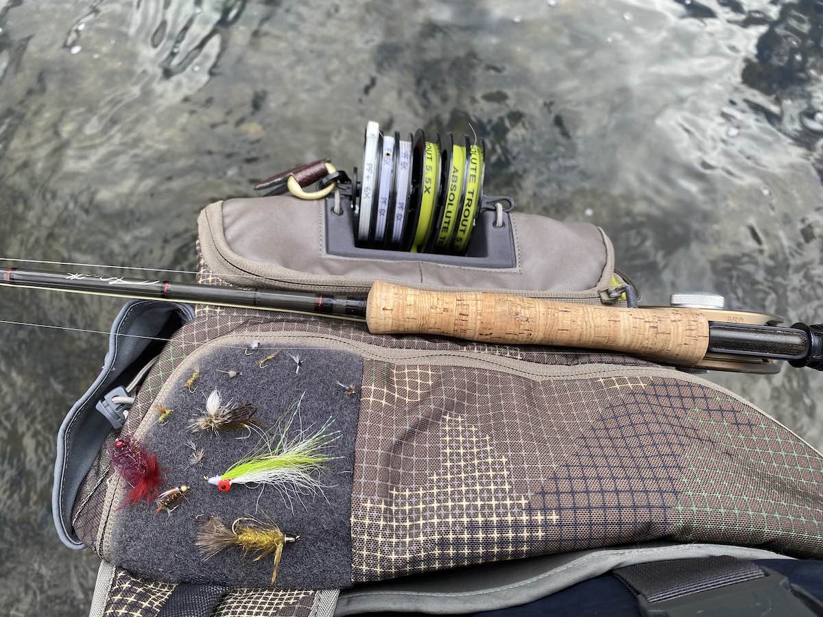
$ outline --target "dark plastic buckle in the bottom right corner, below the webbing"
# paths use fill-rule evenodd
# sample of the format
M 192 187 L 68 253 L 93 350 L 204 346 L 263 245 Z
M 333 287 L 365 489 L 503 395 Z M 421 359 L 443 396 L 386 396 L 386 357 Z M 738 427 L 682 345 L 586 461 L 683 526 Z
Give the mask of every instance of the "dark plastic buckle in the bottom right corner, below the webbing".
M 762 568 L 762 566 L 760 566 Z M 637 596 L 642 615 L 648 617 L 694 617 L 694 615 L 780 615 L 814 617 L 823 606 L 802 587 L 792 585 L 782 574 L 762 568 L 765 576 L 698 591 L 671 600 L 651 602 Z M 814 607 L 814 608 L 812 608 Z

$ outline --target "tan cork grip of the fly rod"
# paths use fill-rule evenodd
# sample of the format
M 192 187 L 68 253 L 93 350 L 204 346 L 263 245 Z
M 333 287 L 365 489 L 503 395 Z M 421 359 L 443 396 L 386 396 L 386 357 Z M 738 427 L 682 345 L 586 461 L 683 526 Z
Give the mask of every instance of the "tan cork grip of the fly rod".
M 703 360 L 709 322 L 695 308 L 616 308 L 491 292 L 417 290 L 376 281 L 366 323 L 374 334 L 622 351 L 670 364 Z

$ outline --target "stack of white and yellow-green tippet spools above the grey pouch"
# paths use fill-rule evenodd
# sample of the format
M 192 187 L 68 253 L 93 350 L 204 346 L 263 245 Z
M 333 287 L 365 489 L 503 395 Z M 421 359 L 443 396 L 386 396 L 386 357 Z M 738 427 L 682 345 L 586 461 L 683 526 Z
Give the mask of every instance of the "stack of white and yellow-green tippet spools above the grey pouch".
M 356 244 L 412 253 L 466 253 L 480 213 L 486 143 L 366 124 L 362 178 L 352 174 Z

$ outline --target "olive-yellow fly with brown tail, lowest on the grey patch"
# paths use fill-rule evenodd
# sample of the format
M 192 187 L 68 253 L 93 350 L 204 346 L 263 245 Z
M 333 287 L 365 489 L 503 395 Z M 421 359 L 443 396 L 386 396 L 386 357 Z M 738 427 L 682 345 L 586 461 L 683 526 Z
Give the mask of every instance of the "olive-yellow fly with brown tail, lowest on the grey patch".
M 280 568 L 283 546 L 297 540 L 300 540 L 300 536 L 283 533 L 277 525 L 263 523 L 254 518 L 237 518 L 231 527 L 228 527 L 220 517 L 210 517 L 200 526 L 194 544 L 200 550 L 204 561 L 230 546 L 239 546 L 243 549 L 244 557 L 253 554 L 252 561 L 274 555 L 273 585 L 277 579 L 277 570 Z

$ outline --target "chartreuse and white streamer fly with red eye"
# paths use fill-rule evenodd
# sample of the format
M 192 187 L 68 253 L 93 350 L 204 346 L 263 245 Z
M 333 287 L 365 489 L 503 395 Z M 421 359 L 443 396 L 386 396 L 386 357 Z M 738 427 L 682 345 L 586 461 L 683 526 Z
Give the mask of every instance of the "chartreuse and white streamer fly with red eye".
M 340 438 L 340 431 L 331 430 L 332 418 L 314 430 L 295 426 L 302 401 L 303 396 L 249 454 L 220 476 L 208 478 L 209 484 L 223 493 L 232 485 L 271 485 L 287 497 L 298 499 L 323 489 L 319 472 L 334 458 L 330 449 Z

